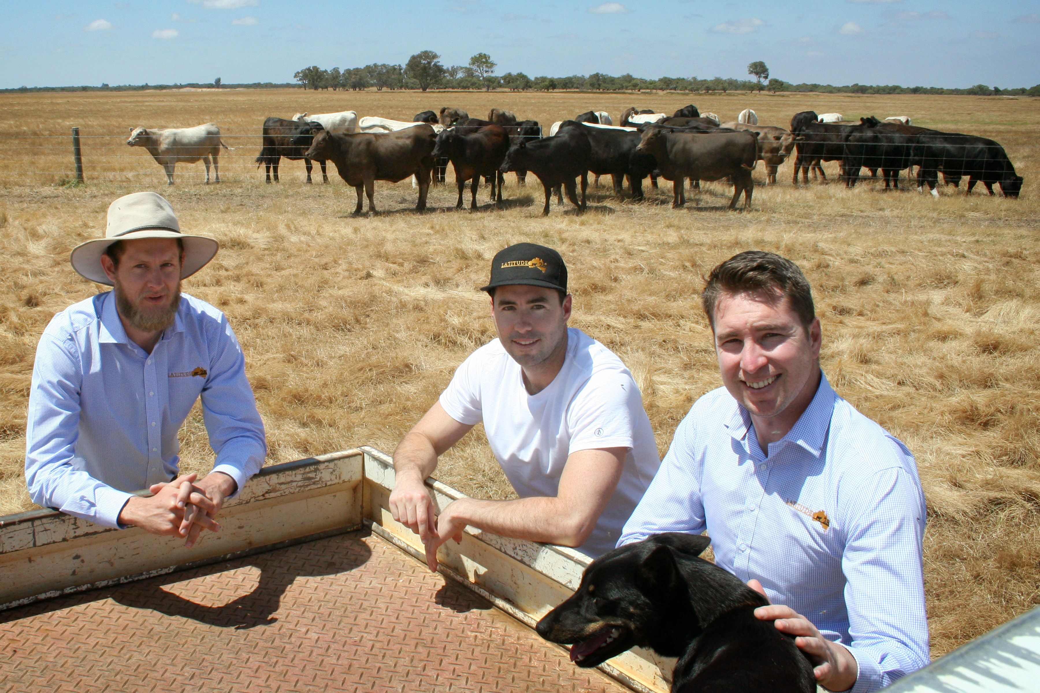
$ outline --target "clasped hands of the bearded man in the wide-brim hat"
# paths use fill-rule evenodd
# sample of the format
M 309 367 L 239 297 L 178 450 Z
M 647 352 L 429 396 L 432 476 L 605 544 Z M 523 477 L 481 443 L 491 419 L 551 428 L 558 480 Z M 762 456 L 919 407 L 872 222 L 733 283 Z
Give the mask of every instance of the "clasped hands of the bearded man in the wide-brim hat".
M 193 547 L 204 529 L 219 532 L 215 518 L 224 499 L 235 492 L 237 484 L 227 474 L 213 472 L 196 483 L 199 475 L 182 474 L 173 481 L 152 484 L 152 496 L 133 496 L 123 506 L 119 522 L 133 525 L 152 534 L 185 537 L 184 545 Z

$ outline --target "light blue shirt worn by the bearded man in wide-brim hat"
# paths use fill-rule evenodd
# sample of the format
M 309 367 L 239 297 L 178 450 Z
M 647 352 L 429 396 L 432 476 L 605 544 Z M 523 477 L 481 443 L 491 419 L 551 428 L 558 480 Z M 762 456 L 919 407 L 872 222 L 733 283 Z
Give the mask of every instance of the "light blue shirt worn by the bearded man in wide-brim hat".
M 110 291 L 58 313 L 32 369 L 25 432 L 32 502 L 118 527 L 128 491 L 177 475 L 177 432 L 200 395 L 213 471 L 241 489 L 267 444 L 223 313 L 181 294 L 151 354 L 127 337 Z

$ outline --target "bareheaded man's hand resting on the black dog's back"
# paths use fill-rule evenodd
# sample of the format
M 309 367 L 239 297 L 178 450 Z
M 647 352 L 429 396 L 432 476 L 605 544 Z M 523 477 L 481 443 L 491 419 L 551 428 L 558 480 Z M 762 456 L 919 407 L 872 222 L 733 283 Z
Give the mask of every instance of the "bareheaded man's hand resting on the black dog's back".
M 749 581 L 748 586 L 765 596 L 765 590 L 757 580 Z M 790 607 L 773 604 L 755 609 L 755 616 L 775 621 L 778 631 L 796 636 L 795 644 L 812 661 L 816 683 L 827 690 L 848 691 L 856 683 L 859 675 L 856 658 L 841 643 L 821 635 L 812 621 L 802 614 Z

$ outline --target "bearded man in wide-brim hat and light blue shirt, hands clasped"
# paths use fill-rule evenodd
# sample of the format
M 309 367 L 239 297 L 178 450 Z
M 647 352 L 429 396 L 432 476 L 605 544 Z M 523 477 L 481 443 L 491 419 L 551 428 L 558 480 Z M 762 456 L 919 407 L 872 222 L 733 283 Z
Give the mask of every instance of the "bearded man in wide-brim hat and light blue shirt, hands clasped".
M 217 247 L 181 233 L 161 195 L 135 192 L 108 208 L 105 238 L 73 249 L 73 268 L 113 290 L 58 313 L 40 339 L 25 456 L 34 503 L 188 547 L 219 530 L 225 499 L 267 446 L 227 317 L 181 293 Z M 200 397 L 216 463 L 196 482 L 178 476 L 177 433 Z

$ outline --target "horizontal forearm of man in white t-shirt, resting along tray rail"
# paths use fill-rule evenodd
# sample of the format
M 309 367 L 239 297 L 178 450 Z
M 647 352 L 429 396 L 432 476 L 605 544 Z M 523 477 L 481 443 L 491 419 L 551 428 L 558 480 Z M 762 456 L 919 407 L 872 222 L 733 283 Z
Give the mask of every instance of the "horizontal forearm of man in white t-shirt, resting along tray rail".
M 463 498 L 445 508 L 459 524 L 471 525 L 502 536 L 580 547 L 596 526 L 557 498 L 534 497 L 515 501 Z

